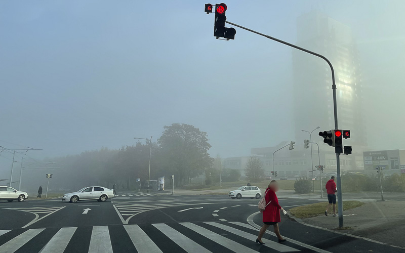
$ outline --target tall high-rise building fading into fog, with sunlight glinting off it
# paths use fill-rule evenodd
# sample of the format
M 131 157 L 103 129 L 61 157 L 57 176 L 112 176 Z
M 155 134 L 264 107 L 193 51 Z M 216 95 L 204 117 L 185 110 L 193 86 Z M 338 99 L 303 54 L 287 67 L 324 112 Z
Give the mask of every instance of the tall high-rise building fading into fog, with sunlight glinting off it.
M 352 136 L 344 144 L 360 151 L 367 146 L 366 126 L 359 54 L 350 27 L 321 12 L 311 11 L 297 19 L 297 45 L 331 61 L 335 69 L 339 128 L 351 130 Z M 294 50 L 293 74 L 296 140 L 309 139 L 301 130 L 312 131 L 318 125 L 322 131 L 334 129 L 332 76 L 328 64 Z M 312 140 L 320 140 L 317 133 L 314 131 Z

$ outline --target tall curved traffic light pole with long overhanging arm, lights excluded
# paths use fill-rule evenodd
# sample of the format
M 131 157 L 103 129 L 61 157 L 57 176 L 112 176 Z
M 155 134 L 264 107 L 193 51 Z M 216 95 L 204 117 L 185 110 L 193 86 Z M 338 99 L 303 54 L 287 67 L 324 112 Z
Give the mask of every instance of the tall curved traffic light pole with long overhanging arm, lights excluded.
M 287 41 L 284 41 L 284 40 L 281 40 L 281 39 L 278 39 L 278 38 L 274 38 L 272 36 L 269 36 L 269 35 L 254 31 L 252 29 L 249 29 L 249 28 L 246 28 L 246 27 L 231 23 L 229 21 L 225 21 L 225 23 L 228 23 L 230 25 L 234 25 L 234 26 L 239 27 L 241 29 L 244 29 L 244 30 L 256 33 L 256 34 L 259 34 L 259 35 L 264 36 L 266 38 L 277 41 L 278 43 L 287 45 L 289 47 L 292 47 L 292 48 L 295 48 L 295 49 L 298 49 L 298 50 L 301 50 L 303 52 L 306 52 L 308 54 L 317 56 L 317 57 L 322 58 L 323 60 L 325 60 L 328 63 L 329 67 L 331 68 L 331 72 L 332 72 L 333 110 L 334 110 L 334 118 L 335 118 L 335 129 L 336 130 L 338 129 L 338 106 L 337 106 L 337 102 L 336 102 L 335 71 L 333 70 L 332 63 L 325 56 L 317 54 L 317 53 L 312 52 L 312 51 L 309 51 L 307 49 L 298 47 L 296 45 L 288 43 Z M 342 183 L 341 183 L 341 177 L 340 177 L 340 159 L 339 159 L 340 157 L 339 157 L 339 155 L 340 154 L 336 154 L 336 167 L 337 167 L 339 227 L 341 228 L 341 227 L 343 227 L 343 202 L 342 202 L 343 200 L 342 200 L 342 187 L 341 187 Z M 274 154 L 273 154 L 273 156 L 274 156 Z M 273 163 L 274 163 L 274 159 L 273 159 Z M 273 164 L 273 170 L 274 170 L 274 164 Z

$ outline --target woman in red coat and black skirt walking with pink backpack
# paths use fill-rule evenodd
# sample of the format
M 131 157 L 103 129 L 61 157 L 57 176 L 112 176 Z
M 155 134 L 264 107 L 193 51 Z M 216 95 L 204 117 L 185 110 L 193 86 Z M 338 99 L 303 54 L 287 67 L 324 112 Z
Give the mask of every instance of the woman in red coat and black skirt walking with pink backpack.
M 262 211 L 264 224 L 260 229 L 259 236 L 256 239 L 257 243 L 264 244 L 264 242 L 262 242 L 262 236 L 270 225 L 273 225 L 274 227 L 274 233 L 278 237 L 278 242 L 282 243 L 286 241 L 286 239 L 281 237 L 280 231 L 278 229 L 278 222 L 281 221 L 280 210 L 283 211 L 284 209 L 278 204 L 278 198 L 275 195 L 276 191 L 278 191 L 278 183 L 277 181 L 272 180 L 268 185 L 264 196 L 267 206 L 266 209 Z

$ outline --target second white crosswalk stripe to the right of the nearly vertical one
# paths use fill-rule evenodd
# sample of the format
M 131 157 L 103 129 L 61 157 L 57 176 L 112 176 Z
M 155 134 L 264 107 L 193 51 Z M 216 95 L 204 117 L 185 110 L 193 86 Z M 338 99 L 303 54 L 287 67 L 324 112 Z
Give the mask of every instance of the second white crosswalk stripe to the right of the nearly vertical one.
M 160 230 L 160 232 L 164 233 L 167 237 L 169 237 L 172 241 L 174 241 L 177 245 L 179 245 L 182 249 L 186 250 L 187 252 L 198 252 L 198 253 L 211 252 L 210 250 L 199 245 L 193 240 L 190 240 L 190 238 L 188 238 L 187 236 L 183 235 L 179 231 L 169 227 L 164 223 L 152 225 L 158 230 Z

